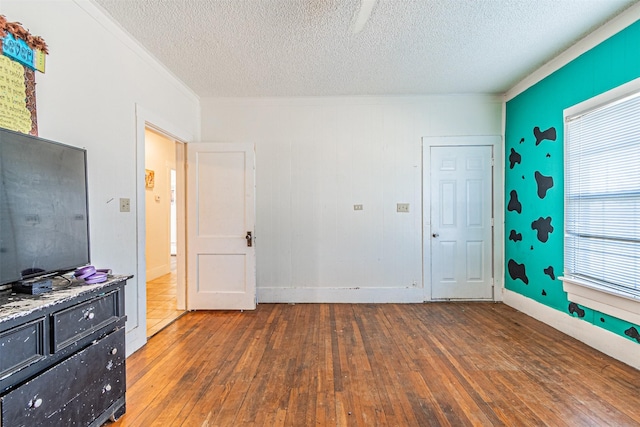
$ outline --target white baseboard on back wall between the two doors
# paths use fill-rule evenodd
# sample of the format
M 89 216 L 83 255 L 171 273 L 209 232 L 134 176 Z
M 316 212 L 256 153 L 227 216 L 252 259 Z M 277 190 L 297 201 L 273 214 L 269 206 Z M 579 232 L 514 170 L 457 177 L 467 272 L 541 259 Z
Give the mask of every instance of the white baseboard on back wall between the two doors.
M 422 288 L 258 288 L 258 303 L 421 303 Z

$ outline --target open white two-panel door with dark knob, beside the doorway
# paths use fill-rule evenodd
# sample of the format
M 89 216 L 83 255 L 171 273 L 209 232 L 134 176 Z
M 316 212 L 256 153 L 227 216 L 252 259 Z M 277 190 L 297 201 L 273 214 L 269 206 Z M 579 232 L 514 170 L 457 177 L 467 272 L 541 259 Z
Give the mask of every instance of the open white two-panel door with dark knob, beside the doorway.
M 187 144 L 187 308 L 256 306 L 252 144 Z

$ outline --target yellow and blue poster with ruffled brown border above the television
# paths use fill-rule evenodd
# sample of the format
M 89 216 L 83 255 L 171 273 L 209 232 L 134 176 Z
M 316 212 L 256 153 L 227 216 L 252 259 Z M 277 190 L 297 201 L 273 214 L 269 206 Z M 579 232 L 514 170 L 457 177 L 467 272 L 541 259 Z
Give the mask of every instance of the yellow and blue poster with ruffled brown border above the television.
M 47 44 L 0 15 L 0 127 L 38 134 L 35 71 L 44 73 Z

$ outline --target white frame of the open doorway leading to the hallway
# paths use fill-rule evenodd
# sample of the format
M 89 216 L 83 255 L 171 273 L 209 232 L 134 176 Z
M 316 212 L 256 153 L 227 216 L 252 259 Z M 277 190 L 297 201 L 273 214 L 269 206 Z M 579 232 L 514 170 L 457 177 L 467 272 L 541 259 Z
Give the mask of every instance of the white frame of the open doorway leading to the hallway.
M 176 127 L 169 119 L 159 116 L 147 108 L 136 104 L 136 230 L 135 239 L 137 243 L 136 249 L 136 271 L 134 278 L 129 281 L 127 286 L 135 286 L 136 299 L 133 301 L 127 301 L 127 307 L 134 306 L 135 309 L 127 309 L 127 327 L 126 327 L 126 355 L 133 354 L 136 350 L 146 344 L 147 342 L 147 273 L 146 273 L 146 260 L 145 260 L 145 244 L 146 244 L 146 202 L 145 202 L 145 129 L 154 129 L 172 139 L 176 142 L 182 143 L 182 150 L 189 141 L 195 140 L 195 135 L 185 131 L 179 127 Z M 182 159 L 176 158 L 176 173 L 178 168 L 184 170 L 184 166 L 178 166 L 182 162 L 184 165 L 184 155 Z M 184 182 L 184 181 L 183 181 Z M 182 204 L 185 206 L 185 191 L 182 191 L 182 201 L 176 200 L 178 206 Z M 176 207 L 178 207 L 176 206 Z M 184 212 L 184 210 L 183 210 Z M 180 211 L 177 212 L 180 216 Z M 183 215 L 184 217 L 184 215 Z M 181 230 L 182 228 L 182 230 Z M 178 224 L 178 251 L 185 254 L 185 232 L 184 222 L 182 225 Z M 183 298 L 186 298 L 186 254 L 176 260 L 178 265 L 178 271 L 181 272 L 178 276 L 178 293 L 182 292 Z M 180 264 L 182 263 L 182 264 Z M 182 276 L 182 277 L 181 277 Z M 182 291 L 180 291 L 180 286 Z M 184 300 L 183 300 L 184 301 Z M 186 307 L 185 307 L 186 308 Z

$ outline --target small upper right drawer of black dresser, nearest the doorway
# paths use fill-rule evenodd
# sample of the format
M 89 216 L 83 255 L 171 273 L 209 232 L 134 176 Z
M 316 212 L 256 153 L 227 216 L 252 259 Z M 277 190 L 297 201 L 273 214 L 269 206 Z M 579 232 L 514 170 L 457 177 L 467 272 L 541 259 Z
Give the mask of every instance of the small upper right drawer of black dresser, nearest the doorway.
M 118 298 L 119 291 L 115 290 L 53 313 L 52 351 L 60 351 L 98 329 L 116 322 L 122 315 L 119 312 Z

